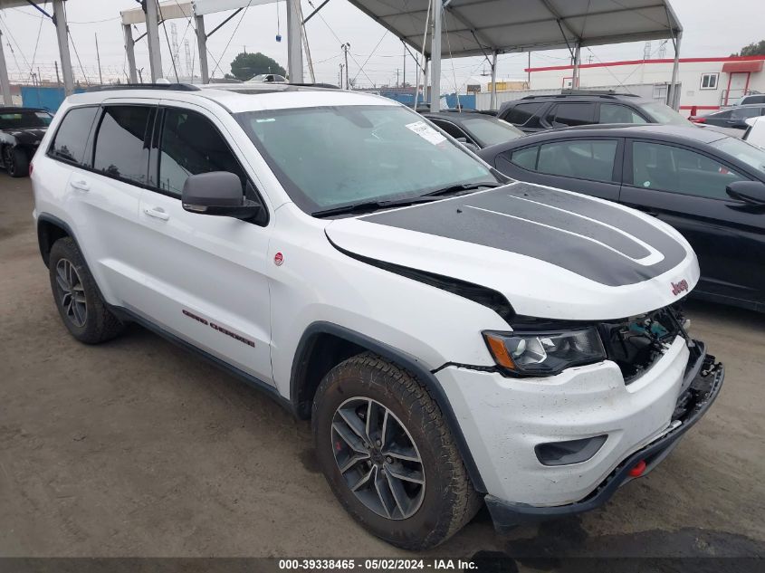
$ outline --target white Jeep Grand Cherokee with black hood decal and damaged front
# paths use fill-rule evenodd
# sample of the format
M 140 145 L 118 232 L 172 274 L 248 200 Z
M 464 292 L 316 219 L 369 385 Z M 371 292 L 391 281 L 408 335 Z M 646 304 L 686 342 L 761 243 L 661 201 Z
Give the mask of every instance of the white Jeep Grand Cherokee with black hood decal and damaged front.
M 380 538 L 596 507 L 717 396 L 669 226 L 509 181 L 377 96 L 149 88 L 68 98 L 33 159 L 66 328 L 139 322 L 310 417 Z

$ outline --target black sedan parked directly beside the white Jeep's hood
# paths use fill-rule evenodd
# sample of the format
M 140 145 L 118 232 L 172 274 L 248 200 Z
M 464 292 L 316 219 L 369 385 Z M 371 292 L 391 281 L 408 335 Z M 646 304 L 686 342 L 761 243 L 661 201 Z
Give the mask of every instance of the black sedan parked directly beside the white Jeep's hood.
M 478 155 L 509 177 L 655 215 L 698 255 L 696 296 L 765 311 L 765 150 L 649 124 L 554 129 Z

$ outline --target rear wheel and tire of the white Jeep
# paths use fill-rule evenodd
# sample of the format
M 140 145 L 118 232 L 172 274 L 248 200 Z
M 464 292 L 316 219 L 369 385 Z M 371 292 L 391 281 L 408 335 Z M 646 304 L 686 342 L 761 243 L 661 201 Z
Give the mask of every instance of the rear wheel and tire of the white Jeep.
M 124 325 L 101 299 L 96 282 L 71 237 L 53 244 L 48 270 L 56 308 L 75 339 L 98 344 L 120 335 Z

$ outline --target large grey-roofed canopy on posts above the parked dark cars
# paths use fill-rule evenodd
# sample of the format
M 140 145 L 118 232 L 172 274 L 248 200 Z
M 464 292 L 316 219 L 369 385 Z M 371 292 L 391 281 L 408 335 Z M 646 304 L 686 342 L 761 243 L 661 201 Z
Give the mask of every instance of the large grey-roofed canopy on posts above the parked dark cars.
M 683 26 L 669 0 L 349 0 L 431 60 L 440 93 L 442 57 L 483 55 L 496 85 L 499 53 L 568 48 L 574 85 L 582 46 L 672 38 L 677 58 Z M 448 42 L 442 42 L 442 33 Z M 675 95 L 675 94 L 673 94 Z M 492 99 L 493 100 L 493 99 Z M 438 109 L 438 98 L 431 99 Z

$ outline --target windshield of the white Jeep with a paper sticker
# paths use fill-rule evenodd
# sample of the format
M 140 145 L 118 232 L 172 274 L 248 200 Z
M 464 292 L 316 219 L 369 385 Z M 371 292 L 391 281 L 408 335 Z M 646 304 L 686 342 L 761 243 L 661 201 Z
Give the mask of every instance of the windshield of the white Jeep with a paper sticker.
M 235 117 L 307 213 L 499 181 L 403 106 L 246 111 Z

